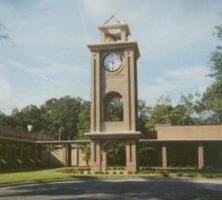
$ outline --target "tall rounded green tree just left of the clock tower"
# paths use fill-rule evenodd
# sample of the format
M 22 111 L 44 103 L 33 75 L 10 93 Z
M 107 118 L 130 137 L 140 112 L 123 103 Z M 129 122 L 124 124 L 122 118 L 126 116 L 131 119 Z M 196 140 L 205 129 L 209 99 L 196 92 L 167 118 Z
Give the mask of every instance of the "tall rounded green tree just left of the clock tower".
M 87 109 L 89 109 L 87 103 L 79 97 L 66 96 L 60 99 L 50 99 L 41 106 L 43 128 L 46 132 L 56 136 L 58 136 L 59 130 L 63 128 L 63 139 L 74 139 L 79 132 L 88 128 L 86 127 L 89 125 Z M 84 114 L 86 116 L 83 116 Z M 80 129 L 81 131 L 79 131 Z

